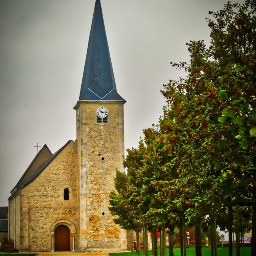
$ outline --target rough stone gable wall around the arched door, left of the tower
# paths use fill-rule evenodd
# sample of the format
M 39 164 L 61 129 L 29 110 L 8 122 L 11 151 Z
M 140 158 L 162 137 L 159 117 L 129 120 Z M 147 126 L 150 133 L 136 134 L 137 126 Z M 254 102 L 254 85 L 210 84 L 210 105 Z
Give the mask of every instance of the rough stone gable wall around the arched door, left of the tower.
M 69 200 L 64 200 L 65 188 L 69 189 Z M 50 234 L 50 229 L 56 220 L 68 220 L 74 224 L 76 230 L 79 230 L 79 171 L 76 142 L 69 142 L 32 183 L 20 190 L 20 194 L 20 250 L 49 252 L 54 249 L 54 233 Z M 74 234 L 75 241 L 78 234 Z M 70 239 L 72 240 L 72 237 Z M 70 249 L 72 250 L 72 245 Z

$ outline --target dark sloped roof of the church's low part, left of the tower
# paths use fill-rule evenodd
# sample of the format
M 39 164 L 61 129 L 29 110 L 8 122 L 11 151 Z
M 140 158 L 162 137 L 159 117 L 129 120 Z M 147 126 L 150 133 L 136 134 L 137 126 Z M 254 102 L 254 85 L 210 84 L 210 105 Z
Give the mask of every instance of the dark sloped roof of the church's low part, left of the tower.
M 44 159 L 44 161 L 38 166 L 38 168 L 36 168 L 36 170 L 34 170 L 34 172 L 32 174 L 30 174 L 29 176 L 26 175 L 26 172 L 28 171 L 28 169 L 26 170 L 26 172 L 23 174 L 22 177 L 26 177 L 26 180 L 22 180 L 22 184 L 19 181 L 18 182 L 18 186 L 16 185 L 14 187 L 14 189 L 12 190 L 12 194 L 14 194 L 14 192 L 18 192 L 18 190 L 20 190 L 21 188 L 26 187 L 28 184 L 30 184 L 33 180 L 35 180 L 39 174 L 46 168 L 46 166 L 48 166 L 48 164 L 50 164 L 52 162 L 52 160 L 54 160 L 54 158 L 56 158 L 56 156 L 58 156 L 58 154 L 71 142 L 71 140 L 69 140 L 62 148 L 60 148 L 58 151 L 56 151 L 54 154 L 51 154 L 50 157 Z M 45 145 L 46 146 L 46 145 Z M 41 151 L 41 150 L 40 150 Z M 40 152 L 38 152 L 39 154 Z M 35 160 L 35 158 L 34 158 Z M 33 161 L 34 161 L 33 160 Z M 32 162 L 33 162 L 32 161 Z M 30 164 L 31 165 L 31 164 Z M 15 190 L 16 188 L 16 190 Z

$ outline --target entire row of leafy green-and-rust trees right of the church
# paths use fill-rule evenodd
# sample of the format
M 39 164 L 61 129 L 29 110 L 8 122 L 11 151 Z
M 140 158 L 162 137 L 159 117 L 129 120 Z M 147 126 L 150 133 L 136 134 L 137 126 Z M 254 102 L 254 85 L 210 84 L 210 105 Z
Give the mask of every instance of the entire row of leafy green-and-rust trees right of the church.
M 256 2 L 228 2 L 223 10 L 209 14 L 210 46 L 190 41 L 190 63 L 172 63 L 187 76 L 164 85 L 163 116 L 144 130 L 138 148 L 127 150 L 127 173 L 117 172 L 110 212 L 128 230 L 168 228 L 169 241 L 176 226 L 185 235 L 185 223 L 193 225 L 196 255 L 201 256 L 206 215 L 214 238 L 216 216 L 225 215 L 235 198 L 236 206 L 250 205 L 255 256 Z M 238 222 L 236 228 L 239 236 Z M 182 235 L 180 243 L 186 255 Z M 157 255 L 154 246 L 153 252 Z

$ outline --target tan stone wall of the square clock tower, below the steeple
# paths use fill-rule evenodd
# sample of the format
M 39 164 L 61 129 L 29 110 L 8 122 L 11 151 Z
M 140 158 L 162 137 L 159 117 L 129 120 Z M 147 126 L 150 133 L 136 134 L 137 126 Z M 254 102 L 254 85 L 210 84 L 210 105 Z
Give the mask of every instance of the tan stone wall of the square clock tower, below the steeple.
M 97 123 L 99 106 L 108 109 L 108 123 Z M 123 102 L 78 103 L 77 140 L 80 141 L 81 250 L 126 248 L 125 230 L 113 222 L 108 211 L 116 169 L 124 171 Z

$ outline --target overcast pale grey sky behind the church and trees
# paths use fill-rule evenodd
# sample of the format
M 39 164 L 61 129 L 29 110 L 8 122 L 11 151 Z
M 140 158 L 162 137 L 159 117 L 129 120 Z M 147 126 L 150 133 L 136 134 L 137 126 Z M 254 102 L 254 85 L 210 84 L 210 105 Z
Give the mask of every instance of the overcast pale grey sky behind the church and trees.
M 137 147 L 142 130 L 158 122 L 165 104 L 162 84 L 184 76 L 170 62 L 189 60 L 189 40 L 210 42 L 205 17 L 226 2 L 101 0 L 117 90 L 127 100 L 125 148 Z M 73 107 L 94 4 L 0 0 L 0 201 L 33 160 L 37 143 L 54 153 L 76 139 Z

